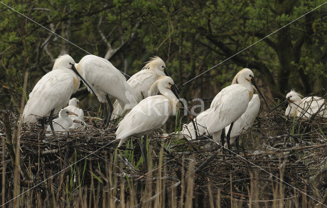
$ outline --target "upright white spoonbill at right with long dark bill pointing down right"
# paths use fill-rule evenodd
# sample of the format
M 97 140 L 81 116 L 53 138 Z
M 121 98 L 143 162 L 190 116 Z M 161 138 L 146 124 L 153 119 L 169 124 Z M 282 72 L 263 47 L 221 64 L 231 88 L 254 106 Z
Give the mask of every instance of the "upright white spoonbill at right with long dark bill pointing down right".
M 250 69 L 242 69 L 234 79 L 238 84 L 225 87 L 215 96 L 210 106 L 206 125 L 208 133 L 213 134 L 214 141 L 218 142 L 222 130 L 230 124 L 226 136 L 228 149 L 230 149 L 229 139 L 233 124 L 246 111 L 248 103 L 252 99 L 252 85 L 258 90 L 268 106 L 266 99 L 256 86 L 253 72 Z M 222 145 L 224 145 L 223 140 Z

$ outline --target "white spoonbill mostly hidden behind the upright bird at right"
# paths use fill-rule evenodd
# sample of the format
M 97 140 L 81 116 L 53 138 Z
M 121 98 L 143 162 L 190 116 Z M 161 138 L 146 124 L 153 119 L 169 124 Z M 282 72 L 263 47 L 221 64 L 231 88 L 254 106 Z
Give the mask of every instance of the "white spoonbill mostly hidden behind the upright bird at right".
M 242 114 L 242 116 L 237 119 L 232 127 L 232 130 L 230 132 L 230 144 L 233 144 L 236 142 L 236 138 L 247 131 L 249 128 L 252 127 L 253 121 L 258 116 L 260 111 L 260 98 L 259 95 L 254 94 L 252 99 L 249 102 L 249 105 L 247 106 L 246 111 Z M 227 136 L 228 130 L 229 130 L 230 124 L 225 127 L 225 134 Z M 238 144 L 236 143 L 236 146 L 238 147 Z M 225 143 L 225 148 L 227 148 L 227 143 Z

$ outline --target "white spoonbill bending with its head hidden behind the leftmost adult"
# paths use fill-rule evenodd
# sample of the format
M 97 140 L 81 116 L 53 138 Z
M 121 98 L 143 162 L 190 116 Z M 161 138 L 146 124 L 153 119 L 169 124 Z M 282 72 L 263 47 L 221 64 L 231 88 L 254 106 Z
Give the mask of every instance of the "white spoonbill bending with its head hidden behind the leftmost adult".
M 113 111 L 110 102 L 111 97 L 116 98 L 120 105 L 127 110 L 132 109 L 137 104 L 134 90 L 127 84 L 125 76 L 107 59 L 95 55 L 86 55 L 76 64 L 76 69 L 90 83 L 91 89 L 95 91 L 99 101 L 108 103 L 109 114 L 108 117 L 105 115 L 104 119 L 106 124 L 109 123 Z

